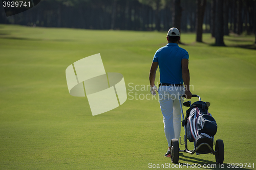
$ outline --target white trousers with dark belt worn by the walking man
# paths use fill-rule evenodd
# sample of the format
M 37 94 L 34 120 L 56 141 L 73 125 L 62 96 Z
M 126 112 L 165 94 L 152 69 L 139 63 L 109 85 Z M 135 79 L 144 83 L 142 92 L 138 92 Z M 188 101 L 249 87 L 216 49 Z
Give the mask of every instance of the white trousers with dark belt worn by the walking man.
M 170 147 L 173 138 L 179 140 L 181 131 L 181 110 L 179 95 L 184 94 L 184 87 L 160 86 L 159 103 L 163 114 L 164 133 Z M 183 99 L 181 99 L 183 103 Z

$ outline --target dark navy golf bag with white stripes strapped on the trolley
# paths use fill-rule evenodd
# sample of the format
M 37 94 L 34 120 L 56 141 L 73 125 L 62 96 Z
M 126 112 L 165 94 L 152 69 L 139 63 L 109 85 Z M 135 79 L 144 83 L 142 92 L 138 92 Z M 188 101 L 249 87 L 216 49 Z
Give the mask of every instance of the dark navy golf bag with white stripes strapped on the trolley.
M 217 123 L 208 112 L 205 102 L 198 101 L 193 103 L 186 111 L 186 131 L 187 139 L 195 142 L 195 147 L 201 143 L 208 143 L 210 147 L 214 144 L 214 135 L 217 132 Z M 197 153 L 209 153 L 207 145 L 203 145 Z

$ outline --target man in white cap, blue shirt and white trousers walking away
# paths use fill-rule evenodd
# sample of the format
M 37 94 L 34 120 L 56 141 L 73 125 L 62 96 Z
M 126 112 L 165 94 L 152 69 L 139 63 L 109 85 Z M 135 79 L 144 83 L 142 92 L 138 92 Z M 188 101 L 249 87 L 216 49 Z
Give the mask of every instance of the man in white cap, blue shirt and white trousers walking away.
M 156 91 L 159 93 L 164 133 L 168 142 L 168 150 L 164 156 L 170 157 L 170 141 L 173 138 L 179 139 L 181 131 L 179 95 L 185 94 L 187 99 L 191 99 L 192 94 L 189 90 L 188 53 L 178 46 L 179 30 L 170 28 L 166 38 L 168 44 L 159 48 L 153 58 L 150 69 L 150 85 L 153 95 L 156 95 Z M 155 85 L 158 66 L 160 71 L 159 89 Z

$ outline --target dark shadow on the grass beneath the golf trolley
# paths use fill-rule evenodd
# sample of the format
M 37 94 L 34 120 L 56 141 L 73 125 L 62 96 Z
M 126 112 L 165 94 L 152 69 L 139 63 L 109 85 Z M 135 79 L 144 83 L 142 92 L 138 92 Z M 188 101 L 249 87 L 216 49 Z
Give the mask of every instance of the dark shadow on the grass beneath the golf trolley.
M 189 154 L 187 154 L 189 155 Z M 184 164 L 183 167 L 185 168 L 195 168 L 195 164 L 197 164 L 197 167 L 201 165 L 201 168 L 207 168 L 207 169 L 250 169 L 250 168 L 246 168 L 246 167 L 240 167 L 239 164 L 238 165 L 231 165 L 228 163 L 223 163 L 223 164 L 217 164 L 216 162 L 213 161 L 208 161 L 208 160 L 204 160 L 204 159 L 200 159 L 200 158 L 195 158 L 195 157 L 190 157 L 187 156 L 186 154 L 180 153 L 179 154 L 179 160 L 185 161 L 185 162 L 193 162 L 191 164 L 187 164 L 185 165 L 185 163 L 180 163 L 180 164 Z M 212 155 L 214 156 L 214 155 Z M 214 156 L 215 157 L 215 156 Z M 193 167 L 194 165 L 194 167 Z M 241 164 L 242 165 L 242 164 Z M 245 164 L 243 164 L 243 166 L 245 166 Z

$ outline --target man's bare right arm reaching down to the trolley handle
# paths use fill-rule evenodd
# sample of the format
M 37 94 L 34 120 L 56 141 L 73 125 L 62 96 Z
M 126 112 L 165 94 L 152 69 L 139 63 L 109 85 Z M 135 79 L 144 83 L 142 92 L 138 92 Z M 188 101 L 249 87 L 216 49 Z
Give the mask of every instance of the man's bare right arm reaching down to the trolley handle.
M 182 67 L 182 79 L 185 86 L 185 95 L 187 99 L 191 99 L 192 94 L 189 89 L 189 69 L 188 69 L 188 59 L 182 59 L 181 60 L 181 67 Z

